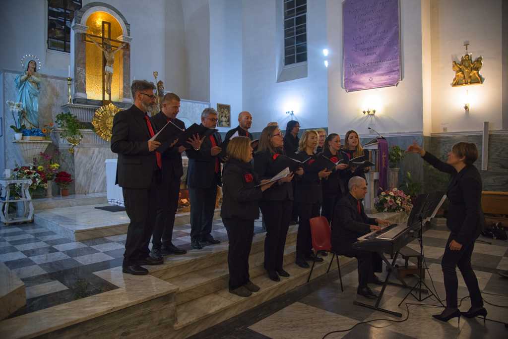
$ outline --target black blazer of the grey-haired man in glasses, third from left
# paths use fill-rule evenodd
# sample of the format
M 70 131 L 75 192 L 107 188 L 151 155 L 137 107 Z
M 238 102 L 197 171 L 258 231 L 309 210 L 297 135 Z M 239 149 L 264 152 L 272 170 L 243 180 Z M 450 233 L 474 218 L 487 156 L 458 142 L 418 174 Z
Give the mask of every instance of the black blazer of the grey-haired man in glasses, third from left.
M 212 134 L 215 138 L 217 146 L 220 145 L 220 134 L 215 132 Z M 201 144 L 199 151 L 188 149 L 185 151 L 189 158 L 187 168 L 187 186 L 189 188 L 212 188 L 214 186 L 221 186 L 220 180 L 220 166 L 219 173 L 215 173 L 215 159 L 219 159 L 219 155 L 211 155 L 212 143 L 210 137 L 205 138 Z

